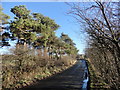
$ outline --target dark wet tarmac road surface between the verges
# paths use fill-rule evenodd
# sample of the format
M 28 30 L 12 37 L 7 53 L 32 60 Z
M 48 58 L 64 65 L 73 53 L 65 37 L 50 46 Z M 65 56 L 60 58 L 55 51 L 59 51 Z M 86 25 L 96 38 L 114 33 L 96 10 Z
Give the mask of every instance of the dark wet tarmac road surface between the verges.
M 79 60 L 73 67 L 22 90 L 81 90 L 86 64 Z

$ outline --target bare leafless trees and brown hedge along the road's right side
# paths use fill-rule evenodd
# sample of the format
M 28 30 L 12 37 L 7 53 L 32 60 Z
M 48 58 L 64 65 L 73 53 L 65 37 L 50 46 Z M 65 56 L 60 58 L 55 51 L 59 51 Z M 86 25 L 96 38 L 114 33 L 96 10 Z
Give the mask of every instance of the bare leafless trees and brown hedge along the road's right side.
M 89 35 L 86 53 L 101 78 L 111 88 L 119 89 L 120 24 L 119 2 L 67 3 L 68 12 Z

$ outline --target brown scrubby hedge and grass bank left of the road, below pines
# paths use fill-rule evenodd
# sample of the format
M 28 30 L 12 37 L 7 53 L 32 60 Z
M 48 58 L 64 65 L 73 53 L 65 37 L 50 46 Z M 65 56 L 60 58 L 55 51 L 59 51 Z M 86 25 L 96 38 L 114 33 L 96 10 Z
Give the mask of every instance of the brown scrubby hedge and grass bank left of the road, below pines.
M 30 55 L 28 52 L 30 51 L 19 51 L 15 55 L 2 55 L 3 89 L 30 85 L 37 80 L 61 72 L 76 62 L 68 56 L 56 60 Z

